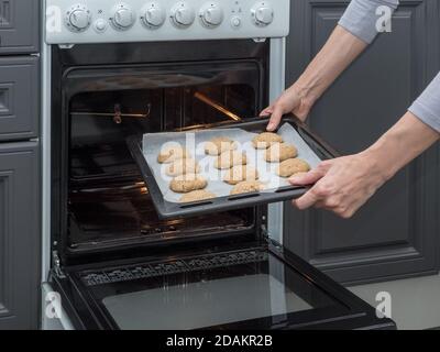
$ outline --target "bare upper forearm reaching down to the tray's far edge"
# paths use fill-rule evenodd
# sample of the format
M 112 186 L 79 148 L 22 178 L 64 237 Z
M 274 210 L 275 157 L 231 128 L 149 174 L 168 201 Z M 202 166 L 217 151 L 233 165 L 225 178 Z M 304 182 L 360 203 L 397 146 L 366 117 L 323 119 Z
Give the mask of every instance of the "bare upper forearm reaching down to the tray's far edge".
M 299 79 L 289 88 L 309 107 L 322 96 L 367 44 L 341 26 L 331 34 Z

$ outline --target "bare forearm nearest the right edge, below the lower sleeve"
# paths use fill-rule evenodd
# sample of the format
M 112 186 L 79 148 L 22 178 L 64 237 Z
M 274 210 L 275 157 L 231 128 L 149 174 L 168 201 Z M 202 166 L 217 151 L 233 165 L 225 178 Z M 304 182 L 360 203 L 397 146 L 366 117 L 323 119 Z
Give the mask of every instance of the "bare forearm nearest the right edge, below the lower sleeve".
M 361 153 L 371 163 L 372 176 L 382 183 L 439 141 L 440 133 L 407 112 L 375 144 Z

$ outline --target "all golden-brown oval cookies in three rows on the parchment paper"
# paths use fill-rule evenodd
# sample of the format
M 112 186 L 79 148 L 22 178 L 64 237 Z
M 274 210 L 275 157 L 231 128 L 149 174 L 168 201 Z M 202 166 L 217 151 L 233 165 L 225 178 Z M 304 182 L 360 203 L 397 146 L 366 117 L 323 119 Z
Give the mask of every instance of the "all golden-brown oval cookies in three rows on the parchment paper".
M 297 148 L 285 143 L 283 138 L 273 132 L 264 132 L 252 140 L 256 151 L 264 151 L 266 163 L 277 163 L 276 174 L 287 178 L 310 169 L 307 162 L 298 158 Z M 218 136 L 206 142 L 205 154 L 213 157 L 213 167 L 223 170 L 223 182 L 233 186 L 230 195 L 262 191 L 265 187 L 260 182 L 258 170 L 248 165 L 245 152 L 239 151 L 237 142 L 226 136 Z M 207 190 L 208 180 L 200 175 L 201 167 L 187 150 L 182 146 L 166 147 L 157 156 L 160 164 L 166 164 L 165 173 L 173 177 L 169 189 L 182 194 L 180 202 L 202 201 L 217 196 Z

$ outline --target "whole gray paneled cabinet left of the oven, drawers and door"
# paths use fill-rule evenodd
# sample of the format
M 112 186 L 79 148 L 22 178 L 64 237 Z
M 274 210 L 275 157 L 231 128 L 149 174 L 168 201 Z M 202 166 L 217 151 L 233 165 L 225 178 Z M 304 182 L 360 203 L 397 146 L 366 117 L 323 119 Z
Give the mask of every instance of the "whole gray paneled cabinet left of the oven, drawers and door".
M 40 9 L 0 0 L 0 330 L 38 327 Z

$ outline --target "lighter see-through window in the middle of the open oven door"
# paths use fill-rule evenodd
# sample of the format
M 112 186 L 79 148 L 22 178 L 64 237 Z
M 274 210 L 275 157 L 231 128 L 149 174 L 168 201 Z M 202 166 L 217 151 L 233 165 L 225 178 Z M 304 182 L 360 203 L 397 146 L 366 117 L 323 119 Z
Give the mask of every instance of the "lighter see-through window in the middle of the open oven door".
M 102 302 L 123 330 L 200 329 L 312 308 L 268 274 L 158 287 Z

